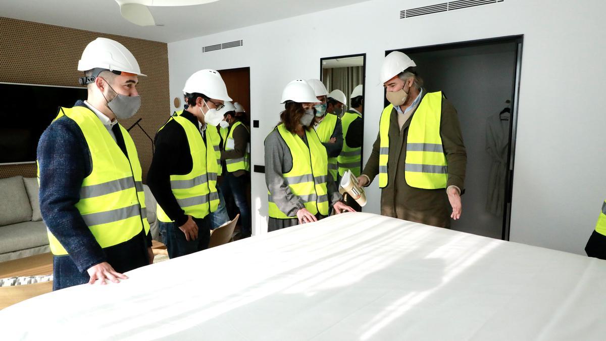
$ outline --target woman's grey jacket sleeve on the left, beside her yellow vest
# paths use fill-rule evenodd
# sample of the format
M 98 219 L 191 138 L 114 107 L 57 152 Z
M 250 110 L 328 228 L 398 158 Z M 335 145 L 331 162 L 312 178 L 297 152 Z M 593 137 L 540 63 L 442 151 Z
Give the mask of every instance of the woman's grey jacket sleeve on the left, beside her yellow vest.
M 278 130 L 273 130 L 265 138 L 265 183 L 280 211 L 293 217 L 299 209 L 305 208 L 301 198 L 290 191 L 282 174 L 290 172 L 293 157 Z

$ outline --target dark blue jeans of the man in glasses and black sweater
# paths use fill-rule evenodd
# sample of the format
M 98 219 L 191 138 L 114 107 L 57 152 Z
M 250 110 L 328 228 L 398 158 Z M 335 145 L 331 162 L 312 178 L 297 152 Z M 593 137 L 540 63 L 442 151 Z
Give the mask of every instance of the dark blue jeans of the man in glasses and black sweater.
M 193 254 L 194 252 L 202 251 L 208 248 L 210 241 L 210 219 L 204 217 L 202 219 L 193 218 L 194 223 L 198 225 L 198 238 L 196 240 L 187 241 L 185 234 L 177 223 L 163 223 L 158 221 L 162 242 L 166 245 L 168 258 L 181 257 L 182 255 Z

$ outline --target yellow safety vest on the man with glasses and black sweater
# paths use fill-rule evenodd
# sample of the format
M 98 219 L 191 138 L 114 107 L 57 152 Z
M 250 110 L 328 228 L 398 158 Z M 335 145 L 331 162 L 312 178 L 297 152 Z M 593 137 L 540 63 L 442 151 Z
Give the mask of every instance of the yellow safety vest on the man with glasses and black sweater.
M 215 150 L 207 148 L 198 126 L 181 115 L 171 116 L 168 120 L 181 124 L 187 136 L 191 154 L 191 171 L 185 175 L 170 175 L 170 188 L 179 206 L 186 215 L 204 218 L 215 212 L 219 206 L 219 195 L 216 189 L 217 162 Z M 165 125 L 164 125 L 165 126 Z M 162 126 L 158 131 L 164 128 Z M 158 220 L 170 223 L 171 220 L 158 204 Z

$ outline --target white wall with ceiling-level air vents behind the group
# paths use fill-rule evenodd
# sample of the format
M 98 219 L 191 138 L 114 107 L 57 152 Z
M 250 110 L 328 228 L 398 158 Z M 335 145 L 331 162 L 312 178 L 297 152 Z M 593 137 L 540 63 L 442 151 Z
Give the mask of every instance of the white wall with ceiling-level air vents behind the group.
M 278 121 L 282 87 L 318 78 L 321 57 L 367 53 L 364 149 L 370 150 L 383 103 L 378 73 L 385 50 L 523 34 L 511 240 L 582 253 L 606 196 L 606 2 L 506 0 L 399 19 L 399 10 L 438 2 L 368 1 L 170 43 L 171 98 L 182 96 L 196 70 L 249 66 L 252 119 L 261 120 L 251 132 L 252 163 L 263 164 L 263 140 Z M 339 29 L 338 21 L 347 25 Z M 244 39 L 244 47 L 201 53 L 202 46 L 236 39 Z M 252 174 L 252 191 L 259 233 L 259 214 L 267 215 L 262 174 Z M 376 181 L 368 195 L 376 200 L 365 211 L 379 212 Z

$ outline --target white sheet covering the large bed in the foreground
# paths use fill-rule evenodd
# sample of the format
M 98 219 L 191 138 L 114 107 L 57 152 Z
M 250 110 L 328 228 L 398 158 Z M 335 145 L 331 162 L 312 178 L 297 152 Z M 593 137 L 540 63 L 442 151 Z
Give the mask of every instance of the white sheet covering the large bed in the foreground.
M 606 262 L 351 213 L 0 311 L 4 340 L 604 340 Z

